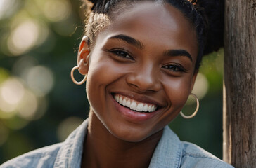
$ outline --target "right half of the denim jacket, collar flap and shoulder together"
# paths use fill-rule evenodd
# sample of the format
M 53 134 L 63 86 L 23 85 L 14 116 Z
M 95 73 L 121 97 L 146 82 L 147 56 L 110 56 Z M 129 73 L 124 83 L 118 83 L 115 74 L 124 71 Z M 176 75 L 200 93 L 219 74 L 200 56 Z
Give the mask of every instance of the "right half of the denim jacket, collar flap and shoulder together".
M 151 168 L 232 168 L 214 155 L 195 144 L 180 141 L 179 137 L 165 127 L 155 148 Z

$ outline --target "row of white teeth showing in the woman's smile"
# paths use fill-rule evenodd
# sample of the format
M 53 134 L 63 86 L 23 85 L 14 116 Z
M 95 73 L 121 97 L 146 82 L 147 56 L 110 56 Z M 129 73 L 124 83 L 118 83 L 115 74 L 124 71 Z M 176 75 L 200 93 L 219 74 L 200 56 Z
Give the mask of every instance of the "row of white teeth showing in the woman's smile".
M 143 102 L 138 102 L 134 99 L 130 99 L 129 97 L 124 97 L 120 94 L 114 95 L 115 101 L 119 103 L 122 106 L 126 106 L 129 109 L 132 109 L 133 111 L 143 111 L 151 113 L 157 109 L 157 106 L 154 104 L 147 104 Z

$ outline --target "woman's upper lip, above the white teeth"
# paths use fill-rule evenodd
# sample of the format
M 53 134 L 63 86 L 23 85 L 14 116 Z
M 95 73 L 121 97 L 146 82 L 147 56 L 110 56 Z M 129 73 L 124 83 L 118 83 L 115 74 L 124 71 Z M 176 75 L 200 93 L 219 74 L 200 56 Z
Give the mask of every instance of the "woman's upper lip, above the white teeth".
M 156 106 L 164 106 L 162 103 L 155 101 L 154 99 L 151 99 L 150 97 L 147 97 L 145 95 L 140 95 L 136 93 L 128 93 L 128 92 L 112 92 L 112 94 L 120 94 L 124 97 L 129 97 L 130 99 L 134 99 L 137 102 L 142 102 L 146 104 L 155 104 Z

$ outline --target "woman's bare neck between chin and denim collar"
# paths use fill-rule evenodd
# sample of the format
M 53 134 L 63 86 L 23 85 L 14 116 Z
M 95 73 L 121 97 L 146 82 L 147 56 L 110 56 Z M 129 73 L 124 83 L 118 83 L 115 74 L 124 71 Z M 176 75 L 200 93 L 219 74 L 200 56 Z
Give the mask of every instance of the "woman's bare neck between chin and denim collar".
M 90 111 L 82 167 L 148 167 L 162 130 L 139 142 L 117 139 Z

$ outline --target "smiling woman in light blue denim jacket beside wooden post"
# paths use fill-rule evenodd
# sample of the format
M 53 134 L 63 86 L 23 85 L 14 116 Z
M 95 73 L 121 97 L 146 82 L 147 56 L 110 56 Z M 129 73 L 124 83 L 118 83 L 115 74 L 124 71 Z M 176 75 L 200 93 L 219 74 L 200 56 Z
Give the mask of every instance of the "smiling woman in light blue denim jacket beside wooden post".
M 191 94 L 203 56 L 207 21 L 198 4 L 92 3 L 72 69 L 84 80 L 71 73 L 77 84 L 87 80 L 89 118 L 63 143 L 1 167 L 231 167 L 167 126 Z

